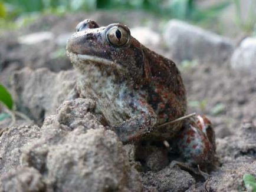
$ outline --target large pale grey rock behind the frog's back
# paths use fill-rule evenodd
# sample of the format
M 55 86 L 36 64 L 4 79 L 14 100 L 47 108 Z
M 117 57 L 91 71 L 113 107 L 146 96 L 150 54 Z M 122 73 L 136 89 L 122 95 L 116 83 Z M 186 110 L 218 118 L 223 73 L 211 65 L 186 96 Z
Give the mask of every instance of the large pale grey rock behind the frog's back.
M 197 60 L 222 65 L 235 48 L 227 38 L 175 19 L 167 24 L 164 37 L 170 58 L 176 62 Z

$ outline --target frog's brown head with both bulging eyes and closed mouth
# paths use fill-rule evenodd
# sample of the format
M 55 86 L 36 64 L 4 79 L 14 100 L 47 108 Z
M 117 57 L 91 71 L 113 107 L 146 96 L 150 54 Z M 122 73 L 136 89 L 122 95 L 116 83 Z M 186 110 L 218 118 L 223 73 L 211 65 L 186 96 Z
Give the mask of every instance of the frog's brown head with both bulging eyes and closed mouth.
M 67 55 L 80 72 L 88 72 L 85 65 L 96 65 L 116 77 L 143 81 L 143 45 L 130 35 L 126 25 L 99 27 L 96 22 L 86 19 L 77 25 L 76 30 L 68 39 Z

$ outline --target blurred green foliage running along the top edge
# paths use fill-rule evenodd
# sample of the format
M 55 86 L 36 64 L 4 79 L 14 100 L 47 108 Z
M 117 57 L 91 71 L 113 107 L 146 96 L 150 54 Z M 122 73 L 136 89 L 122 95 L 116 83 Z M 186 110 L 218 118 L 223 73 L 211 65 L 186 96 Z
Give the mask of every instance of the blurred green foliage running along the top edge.
M 163 17 L 189 21 L 202 21 L 214 18 L 229 5 L 229 1 L 209 8 L 200 9 L 195 0 L 3 0 L 10 7 L 12 17 L 24 12 L 45 10 L 92 11 L 94 9 L 144 9 Z M 5 7 L 3 6 L 3 7 Z M 10 15 L 8 13 L 8 15 Z

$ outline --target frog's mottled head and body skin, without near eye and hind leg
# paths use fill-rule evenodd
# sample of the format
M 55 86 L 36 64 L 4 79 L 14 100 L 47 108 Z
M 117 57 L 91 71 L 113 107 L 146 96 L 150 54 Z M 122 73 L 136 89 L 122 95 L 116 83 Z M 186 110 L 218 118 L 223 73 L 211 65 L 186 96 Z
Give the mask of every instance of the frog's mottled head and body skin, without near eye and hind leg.
M 110 44 L 106 33 L 113 27 L 123 28 L 129 34 L 129 41 L 125 45 Z M 96 100 L 98 110 L 103 112 L 120 140 L 125 143 L 134 141 L 146 137 L 149 132 L 152 137 L 169 139 L 178 133 L 182 127 L 180 122 L 155 128 L 157 124 L 175 120 L 186 112 L 185 87 L 174 62 L 144 47 L 130 36 L 129 29 L 124 25 L 111 24 L 99 28 L 96 22 L 86 19 L 77 28 L 78 32 L 67 42 L 67 53 L 74 67 L 82 74 L 78 81 L 78 92 L 80 97 Z M 88 59 L 81 59 L 77 55 L 104 58 L 112 63 L 105 65 L 105 60 L 87 61 Z M 90 65 L 94 67 L 88 67 Z M 91 72 L 95 69 L 100 72 L 100 76 L 98 72 Z M 93 89 L 93 82 L 99 78 L 109 81 L 110 77 L 112 91 L 107 96 L 102 94 L 105 86 L 100 86 L 103 89 L 101 93 L 98 89 L 89 91 Z M 90 80 L 85 82 L 85 79 Z M 109 110 L 103 110 L 104 102 L 109 103 L 104 106 Z M 122 108 L 111 106 L 120 102 Z M 108 119 L 108 114 L 117 118 Z

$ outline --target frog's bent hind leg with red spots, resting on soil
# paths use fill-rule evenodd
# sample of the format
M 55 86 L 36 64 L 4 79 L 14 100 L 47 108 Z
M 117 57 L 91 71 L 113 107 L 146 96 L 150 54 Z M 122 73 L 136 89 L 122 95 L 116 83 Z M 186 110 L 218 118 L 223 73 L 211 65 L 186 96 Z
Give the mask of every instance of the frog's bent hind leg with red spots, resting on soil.
M 177 135 L 180 154 L 193 165 L 205 170 L 216 161 L 215 134 L 211 122 L 204 115 L 185 120 L 182 132 Z

